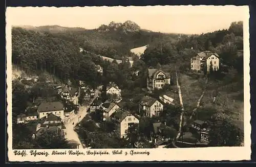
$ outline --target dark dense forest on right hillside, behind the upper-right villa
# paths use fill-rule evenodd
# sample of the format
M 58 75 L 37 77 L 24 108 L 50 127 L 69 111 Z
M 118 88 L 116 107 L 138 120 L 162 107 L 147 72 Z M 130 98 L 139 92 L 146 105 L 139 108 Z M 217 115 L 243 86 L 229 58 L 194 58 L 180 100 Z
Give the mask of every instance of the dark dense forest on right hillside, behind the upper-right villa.
M 152 42 L 142 60 L 148 66 L 175 64 L 181 71 L 190 69 L 190 58 L 201 51 L 216 52 L 223 64 L 243 71 L 243 57 L 238 51 L 243 50 L 243 22 L 232 22 L 228 30 L 218 30 L 201 35 L 183 35 L 179 40 L 164 38 Z

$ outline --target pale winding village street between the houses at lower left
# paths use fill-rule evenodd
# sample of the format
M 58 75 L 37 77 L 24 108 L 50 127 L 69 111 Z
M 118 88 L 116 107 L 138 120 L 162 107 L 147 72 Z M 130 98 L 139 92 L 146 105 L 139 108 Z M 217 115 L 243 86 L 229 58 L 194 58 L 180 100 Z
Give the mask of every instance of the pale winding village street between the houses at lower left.
M 99 94 L 99 90 L 96 89 L 95 97 L 89 102 L 89 104 L 82 105 L 81 107 L 79 107 L 78 113 L 71 116 L 70 119 L 67 122 L 65 122 L 65 126 L 66 126 L 65 138 L 67 140 L 77 141 L 78 149 L 83 149 L 83 146 L 81 144 L 81 141 L 78 138 L 78 134 L 74 131 L 74 127 L 88 114 L 87 110 L 98 94 Z

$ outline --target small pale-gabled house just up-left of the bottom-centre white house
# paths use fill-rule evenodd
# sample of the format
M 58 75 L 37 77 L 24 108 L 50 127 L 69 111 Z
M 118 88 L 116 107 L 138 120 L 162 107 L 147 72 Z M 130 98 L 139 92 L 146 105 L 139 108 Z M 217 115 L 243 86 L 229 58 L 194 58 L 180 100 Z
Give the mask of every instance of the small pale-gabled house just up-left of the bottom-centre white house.
M 106 100 L 100 108 L 103 114 L 103 121 L 110 121 L 110 116 L 120 107 L 116 103 Z

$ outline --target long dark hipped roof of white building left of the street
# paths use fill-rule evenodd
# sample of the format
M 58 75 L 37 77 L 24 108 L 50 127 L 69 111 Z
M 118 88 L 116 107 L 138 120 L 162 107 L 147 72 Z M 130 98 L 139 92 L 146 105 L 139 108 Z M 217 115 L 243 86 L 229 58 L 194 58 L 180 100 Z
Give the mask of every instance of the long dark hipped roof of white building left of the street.
M 42 102 L 37 108 L 38 112 L 58 110 L 63 110 L 63 104 L 61 102 Z

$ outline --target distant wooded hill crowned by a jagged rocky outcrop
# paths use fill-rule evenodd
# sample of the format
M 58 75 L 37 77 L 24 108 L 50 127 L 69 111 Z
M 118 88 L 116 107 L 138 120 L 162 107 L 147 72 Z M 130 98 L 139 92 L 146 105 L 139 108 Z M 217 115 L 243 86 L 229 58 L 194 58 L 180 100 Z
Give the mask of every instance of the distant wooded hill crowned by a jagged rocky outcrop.
M 13 29 L 18 28 L 70 41 L 76 44 L 77 49 L 81 47 L 92 53 L 114 59 L 131 56 L 131 49 L 161 40 L 163 37 L 170 40 L 176 40 L 178 37 L 177 34 L 163 34 L 143 30 L 130 20 L 123 23 L 112 21 L 109 25 L 101 25 L 93 30 L 61 27 L 58 25 L 13 27 Z

